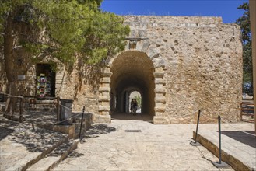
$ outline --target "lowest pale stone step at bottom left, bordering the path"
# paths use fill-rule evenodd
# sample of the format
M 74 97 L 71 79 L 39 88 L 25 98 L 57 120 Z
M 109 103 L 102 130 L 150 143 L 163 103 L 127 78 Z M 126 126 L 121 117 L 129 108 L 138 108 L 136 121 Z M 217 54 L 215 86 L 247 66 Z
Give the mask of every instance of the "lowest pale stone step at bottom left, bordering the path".
M 72 152 L 79 143 L 79 139 L 68 140 L 67 142 L 60 145 L 58 148 L 54 149 L 50 154 L 46 155 L 44 159 L 41 159 L 39 162 L 35 163 L 33 166 L 30 166 L 28 171 L 40 170 L 40 171 L 49 171 L 58 166 L 58 164 L 64 160 L 68 154 Z

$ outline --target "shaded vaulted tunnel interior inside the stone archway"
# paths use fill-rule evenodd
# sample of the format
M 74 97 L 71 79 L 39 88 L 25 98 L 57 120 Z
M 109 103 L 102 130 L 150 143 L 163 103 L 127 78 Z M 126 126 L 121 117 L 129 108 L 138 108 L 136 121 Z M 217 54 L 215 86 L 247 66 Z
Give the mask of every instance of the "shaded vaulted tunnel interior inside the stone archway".
M 129 96 L 138 91 L 142 97 L 142 113 L 155 114 L 153 61 L 146 53 L 125 51 L 114 59 L 110 71 L 111 113 L 128 113 Z

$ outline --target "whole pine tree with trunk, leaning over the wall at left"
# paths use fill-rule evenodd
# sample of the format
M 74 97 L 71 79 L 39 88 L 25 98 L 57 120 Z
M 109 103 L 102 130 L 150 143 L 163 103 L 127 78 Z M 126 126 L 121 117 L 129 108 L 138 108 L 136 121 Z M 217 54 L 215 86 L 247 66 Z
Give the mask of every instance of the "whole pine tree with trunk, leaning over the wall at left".
M 1 0 L 0 54 L 7 93 L 18 95 L 16 69 L 45 58 L 72 66 L 76 60 L 96 64 L 124 50 L 129 33 L 121 16 L 100 10 L 102 0 Z M 19 52 L 25 56 L 19 57 Z M 24 53 L 23 53 L 24 54 Z M 19 61 L 19 62 L 17 62 Z M 28 65 L 30 64 L 30 65 Z M 5 116 L 12 117 L 16 98 L 8 98 Z

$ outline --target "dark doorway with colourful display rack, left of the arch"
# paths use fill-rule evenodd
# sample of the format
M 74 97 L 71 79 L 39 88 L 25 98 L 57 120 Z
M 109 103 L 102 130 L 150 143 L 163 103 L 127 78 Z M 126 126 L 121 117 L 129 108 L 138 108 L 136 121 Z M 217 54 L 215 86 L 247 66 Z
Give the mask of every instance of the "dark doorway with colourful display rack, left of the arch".
M 37 64 L 37 98 L 44 99 L 46 96 L 55 96 L 56 72 L 53 65 Z

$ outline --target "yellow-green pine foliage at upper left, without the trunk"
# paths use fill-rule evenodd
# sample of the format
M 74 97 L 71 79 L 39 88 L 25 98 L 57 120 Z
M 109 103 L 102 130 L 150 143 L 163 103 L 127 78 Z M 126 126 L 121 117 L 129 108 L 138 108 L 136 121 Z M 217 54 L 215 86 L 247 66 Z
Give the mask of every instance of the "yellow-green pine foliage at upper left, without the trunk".
M 16 24 L 26 23 L 30 33 L 21 37 L 18 30 L 17 42 L 33 54 L 34 61 L 44 54 L 65 65 L 72 65 L 76 57 L 96 64 L 124 50 L 129 28 L 123 26 L 121 16 L 100 11 L 102 0 L 1 1 L 0 32 L 4 33 L 10 12 L 15 22 L 19 19 Z

